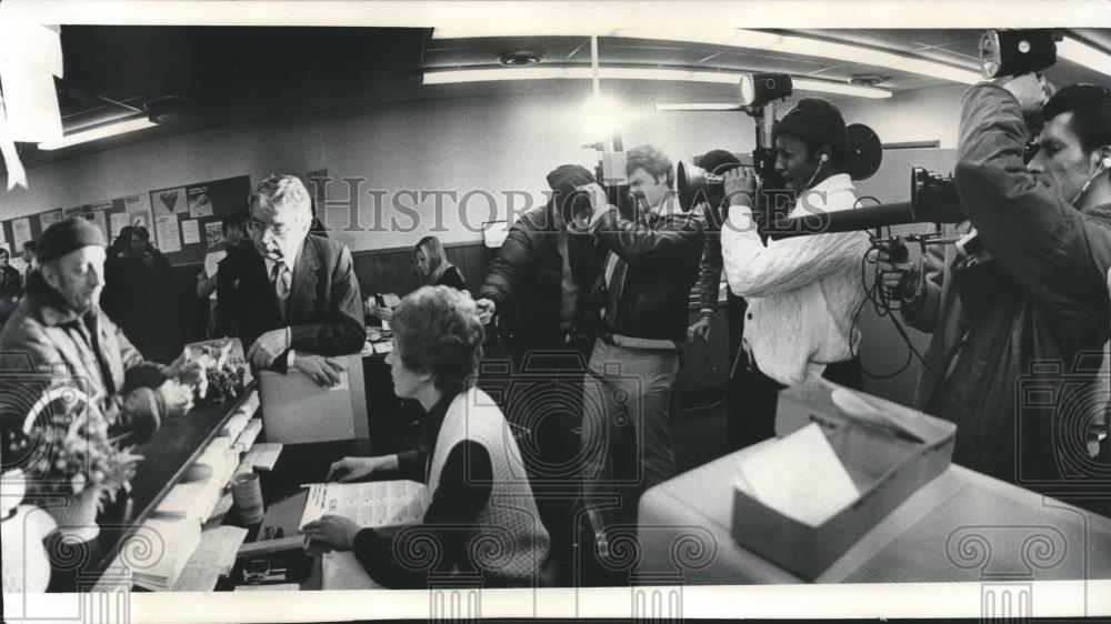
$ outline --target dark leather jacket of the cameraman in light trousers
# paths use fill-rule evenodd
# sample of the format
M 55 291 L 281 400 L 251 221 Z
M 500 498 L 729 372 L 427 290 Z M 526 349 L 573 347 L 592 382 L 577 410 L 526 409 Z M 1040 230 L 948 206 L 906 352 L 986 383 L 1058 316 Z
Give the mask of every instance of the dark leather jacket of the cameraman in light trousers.
M 683 342 L 691 289 L 698 279 L 705 239 L 702 221 L 681 212 L 649 214 L 633 221 L 611 208 L 590 230 L 600 251 L 615 253 L 629 264 L 617 319 L 607 322 L 607 332 Z M 603 305 L 601 290 L 609 258 L 604 253 L 599 255 L 602 264 L 593 302 Z

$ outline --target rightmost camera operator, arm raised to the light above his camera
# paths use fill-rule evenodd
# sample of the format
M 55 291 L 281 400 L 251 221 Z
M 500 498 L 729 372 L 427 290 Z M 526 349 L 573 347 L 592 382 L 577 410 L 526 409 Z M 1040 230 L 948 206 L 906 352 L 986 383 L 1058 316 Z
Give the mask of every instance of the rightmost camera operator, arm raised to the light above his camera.
M 955 184 L 974 239 L 944 265 L 934 253 L 925 275 L 880 258 L 904 319 L 933 331 L 915 406 L 958 424 L 953 461 L 1011 482 L 1060 479 L 1055 457 L 1069 452 L 1060 405 L 1015 402 L 1023 379 L 1063 382 L 1031 364 L 1095 383 L 1070 371 L 1078 354 L 1102 354 L 1111 321 L 1111 90 L 1047 89 L 1025 74 L 964 94 Z M 1040 150 L 1025 165 L 1039 111 Z

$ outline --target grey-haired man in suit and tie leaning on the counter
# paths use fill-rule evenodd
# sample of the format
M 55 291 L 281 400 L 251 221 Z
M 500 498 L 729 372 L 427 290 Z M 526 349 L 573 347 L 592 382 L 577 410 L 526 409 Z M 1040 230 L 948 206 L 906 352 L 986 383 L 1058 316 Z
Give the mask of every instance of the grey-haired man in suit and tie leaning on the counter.
M 221 262 L 220 308 L 256 366 L 339 383 L 343 365 L 329 356 L 357 353 L 367 340 L 351 251 L 309 233 L 309 193 L 292 175 L 256 185 L 248 210 L 253 245 Z

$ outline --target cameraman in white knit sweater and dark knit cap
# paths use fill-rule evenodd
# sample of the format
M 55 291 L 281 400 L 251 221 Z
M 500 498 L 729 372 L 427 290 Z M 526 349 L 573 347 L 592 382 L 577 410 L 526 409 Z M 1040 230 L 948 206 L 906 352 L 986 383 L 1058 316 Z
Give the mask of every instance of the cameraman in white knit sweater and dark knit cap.
M 794 192 L 791 217 L 857 205 L 844 172 L 848 135 L 841 112 L 824 100 L 804 98 L 775 128 L 775 170 Z M 798 236 L 761 242 L 752 215 L 759 191 L 750 170 L 725 174 L 730 198 L 721 230 L 725 279 L 749 302 L 744 352 L 751 375 L 748 443 L 774 434 L 775 394 L 809 376 L 862 385 L 853 318 L 864 300 L 860 263 L 864 232 Z

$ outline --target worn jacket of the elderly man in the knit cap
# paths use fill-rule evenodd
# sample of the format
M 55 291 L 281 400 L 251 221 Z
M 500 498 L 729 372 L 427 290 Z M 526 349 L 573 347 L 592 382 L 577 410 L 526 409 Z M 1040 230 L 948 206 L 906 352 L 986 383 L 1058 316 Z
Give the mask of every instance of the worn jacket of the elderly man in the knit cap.
M 150 425 L 164 419 L 164 405 L 153 390 L 164 381 L 162 371 L 161 364 L 143 360 L 123 330 L 99 306 L 79 316 L 39 272 L 31 274 L 27 296 L 0 332 L 3 381 L 17 388 L 21 383 L 41 385 L 43 380 L 50 385 L 78 388 L 93 399 L 114 432 L 131 429 L 132 423 Z M 34 386 L 24 391 L 42 390 Z

